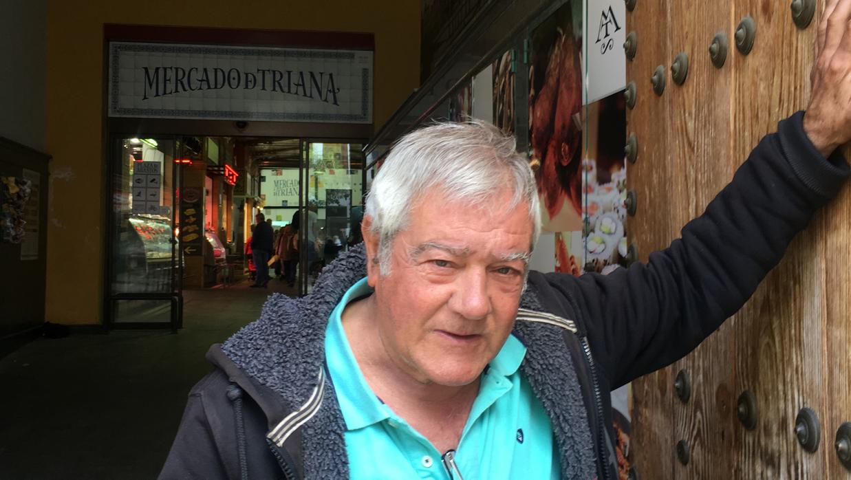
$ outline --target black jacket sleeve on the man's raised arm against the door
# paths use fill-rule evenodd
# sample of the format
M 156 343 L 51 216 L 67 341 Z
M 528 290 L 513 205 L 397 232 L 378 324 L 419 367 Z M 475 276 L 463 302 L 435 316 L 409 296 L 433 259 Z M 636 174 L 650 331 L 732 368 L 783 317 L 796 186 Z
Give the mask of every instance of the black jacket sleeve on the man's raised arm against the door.
M 837 194 L 848 164 L 825 159 L 802 127 L 780 122 L 681 238 L 608 276 L 548 274 L 550 294 L 584 319 L 598 367 L 614 387 L 694 350 L 739 310 L 814 212 Z

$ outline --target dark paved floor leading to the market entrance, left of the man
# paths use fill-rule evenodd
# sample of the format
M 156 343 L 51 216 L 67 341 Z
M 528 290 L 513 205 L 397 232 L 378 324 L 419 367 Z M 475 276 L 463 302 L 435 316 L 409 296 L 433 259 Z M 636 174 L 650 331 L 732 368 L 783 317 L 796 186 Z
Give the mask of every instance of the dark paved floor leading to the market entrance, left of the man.
M 272 291 L 184 292 L 184 329 L 39 339 L 0 360 L 0 478 L 154 478 L 208 346 L 260 314 Z

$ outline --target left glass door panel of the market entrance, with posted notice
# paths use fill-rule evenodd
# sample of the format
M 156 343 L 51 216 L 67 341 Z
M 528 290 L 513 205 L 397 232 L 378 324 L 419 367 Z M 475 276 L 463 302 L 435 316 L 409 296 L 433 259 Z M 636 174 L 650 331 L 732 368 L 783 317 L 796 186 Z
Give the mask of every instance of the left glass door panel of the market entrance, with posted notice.
M 106 324 L 180 328 L 180 254 L 174 212 L 180 142 L 112 139 L 109 165 Z

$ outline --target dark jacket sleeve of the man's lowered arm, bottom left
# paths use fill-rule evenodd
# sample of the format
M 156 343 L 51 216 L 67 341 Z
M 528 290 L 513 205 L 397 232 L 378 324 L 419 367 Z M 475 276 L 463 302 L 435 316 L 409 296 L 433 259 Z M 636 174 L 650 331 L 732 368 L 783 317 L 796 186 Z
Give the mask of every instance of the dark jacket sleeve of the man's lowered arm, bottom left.
M 177 436 L 159 474 L 162 480 L 227 478 L 200 390 L 196 386 L 189 394 Z

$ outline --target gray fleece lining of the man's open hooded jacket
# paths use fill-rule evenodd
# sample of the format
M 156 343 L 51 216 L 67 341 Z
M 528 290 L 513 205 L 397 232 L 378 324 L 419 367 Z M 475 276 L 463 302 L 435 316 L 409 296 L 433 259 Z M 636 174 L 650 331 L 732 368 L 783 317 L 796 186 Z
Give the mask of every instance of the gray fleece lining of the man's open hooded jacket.
M 365 249 L 361 244 L 327 266 L 306 297 L 272 294 L 260 319 L 226 340 L 222 351 L 246 374 L 277 391 L 289 409 L 299 409 L 311 397 L 323 369 L 328 317 L 346 290 L 364 276 Z M 541 311 L 531 285 L 523 294 L 521 306 Z M 564 346 L 563 329 L 518 322 L 513 333 L 527 347 L 521 370 L 550 416 L 562 477 L 596 476 L 585 403 Z M 334 398 L 334 386 L 326 375 L 324 401 L 301 426 L 306 478 L 349 477 L 343 437 L 346 426 Z

